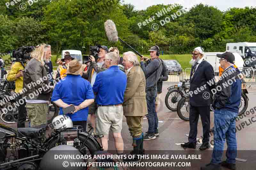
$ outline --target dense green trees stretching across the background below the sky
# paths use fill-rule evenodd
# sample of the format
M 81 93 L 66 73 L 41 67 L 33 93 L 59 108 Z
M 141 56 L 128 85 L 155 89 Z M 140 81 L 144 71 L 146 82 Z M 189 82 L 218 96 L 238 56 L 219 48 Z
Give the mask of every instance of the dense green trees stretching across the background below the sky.
M 96 44 L 130 50 L 119 41 L 108 41 L 107 19 L 115 22 L 120 38 L 144 54 L 152 45 L 160 46 L 164 54 L 188 54 L 196 46 L 213 52 L 225 51 L 227 42 L 256 42 L 255 7 L 223 12 L 204 4 L 189 10 L 159 4 L 136 11 L 119 0 L 36 0 L 32 5 L 21 0 L 7 8 L 3 4 L 8 2 L 0 0 L 0 52 L 41 42 L 51 44 L 56 54 L 63 49 L 88 54 L 89 46 Z M 20 10 L 20 3 L 27 4 L 26 10 Z M 159 26 L 155 31 L 153 23 Z

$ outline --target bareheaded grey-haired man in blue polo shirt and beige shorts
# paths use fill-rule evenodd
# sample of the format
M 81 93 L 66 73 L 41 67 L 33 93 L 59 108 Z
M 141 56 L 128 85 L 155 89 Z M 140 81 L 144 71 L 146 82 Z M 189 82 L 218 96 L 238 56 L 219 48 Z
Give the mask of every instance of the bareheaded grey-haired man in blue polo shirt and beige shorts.
M 121 135 L 123 122 L 123 102 L 126 88 L 126 75 L 118 68 L 119 56 L 110 52 L 104 59 L 108 68 L 97 74 L 95 83 L 92 87 L 93 92 L 97 94 L 96 103 L 98 109 L 96 112 L 96 132 L 104 135 L 100 138 L 104 150 L 108 150 L 108 132 L 113 131 L 117 154 L 123 154 L 124 142 Z

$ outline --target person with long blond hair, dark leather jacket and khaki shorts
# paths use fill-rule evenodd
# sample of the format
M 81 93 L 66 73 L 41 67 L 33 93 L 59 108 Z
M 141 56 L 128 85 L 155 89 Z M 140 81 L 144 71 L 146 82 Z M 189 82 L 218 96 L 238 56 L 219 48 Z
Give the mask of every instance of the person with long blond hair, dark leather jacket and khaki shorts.
M 26 97 L 28 118 L 30 126 L 40 128 L 47 124 L 47 115 L 49 112 L 48 102 L 53 90 L 50 86 L 47 71 L 45 69 L 44 59 L 51 56 L 51 46 L 41 43 L 31 53 L 31 60 L 24 70 L 23 86 L 27 89 L 23 93 Z

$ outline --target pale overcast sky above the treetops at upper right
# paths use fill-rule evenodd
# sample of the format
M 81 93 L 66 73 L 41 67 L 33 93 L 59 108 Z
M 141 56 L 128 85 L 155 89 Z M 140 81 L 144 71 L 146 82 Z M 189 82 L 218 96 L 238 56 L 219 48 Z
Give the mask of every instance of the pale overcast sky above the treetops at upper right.
M 123 0 L 125 4 L 131 3 L 136 10 L 144 10 L 151 5 L 157 4 L 181 4 L 185 8 L 191 8 L 196 4 L 207 4 L 217 7 L 221 11 L 226 11 L 228 8 L 244 8 L 245 6 L 256 6 L 256 0 Z

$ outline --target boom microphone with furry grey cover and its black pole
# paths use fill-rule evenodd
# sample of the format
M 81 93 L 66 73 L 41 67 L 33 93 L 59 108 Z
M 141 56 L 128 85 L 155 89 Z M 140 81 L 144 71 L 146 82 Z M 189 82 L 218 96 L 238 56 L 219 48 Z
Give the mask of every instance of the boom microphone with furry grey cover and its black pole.
M 111 42 L 117 42 L 118 39 L 120 41 L 122 41 L 123 43 L 125 43 L 128 47 L 132 48 L 130 45 L 128 45 L 126 42 L 124 42 L 121 38 L 118 37 L 118 33 L 117 33 L 117 30 L 116 30 L 116 24 L 108 19 L 105 23 L 104 23 L 104 26 L 105 26 L 105 32 L 107 34 L 107 37 L 108 37 L 108 40 L 111 41 Z M 142 56 L 138 51 L 136 51 L 134 48 L 132 48 L 132 50 L 137 53 L 140 57 Z

